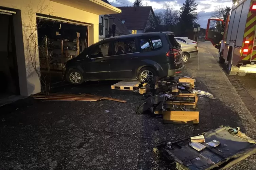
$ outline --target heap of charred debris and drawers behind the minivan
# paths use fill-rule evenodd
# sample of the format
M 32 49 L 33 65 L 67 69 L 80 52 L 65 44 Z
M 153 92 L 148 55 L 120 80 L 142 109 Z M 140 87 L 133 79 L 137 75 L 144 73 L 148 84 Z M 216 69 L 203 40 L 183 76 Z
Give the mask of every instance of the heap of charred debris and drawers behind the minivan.
M 136 113 L 148 112 L 154 114 L 154 111 L 195 111 L 194 108 L 190 108 L 192 105 L 182 104 L 184 102 L 196 103 L 194 96 L 181 95 L 181 93 L 191 93 L 190 86 L 183 84 L 177 83 L 175 80 L 163 81 L 155 78 L 144 86 L 146 93 L 144 93 L 143 97 L 146 99 L 136 107 Z M 169 102 L 168 107 L 166 101 Z

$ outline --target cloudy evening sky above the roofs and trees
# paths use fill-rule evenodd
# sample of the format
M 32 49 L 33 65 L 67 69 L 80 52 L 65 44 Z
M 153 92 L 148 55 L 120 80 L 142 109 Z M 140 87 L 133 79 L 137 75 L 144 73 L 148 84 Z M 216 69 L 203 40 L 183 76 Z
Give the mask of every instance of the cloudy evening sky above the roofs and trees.
M 108 0 L 113 6 L 133 5 L 134 0 Z M 143 6 L 152 6 L 155 13 L 163 10 L 163 5 L 169 3 L 173 9 L 180 10 L 185 0 L 142 0 Z M 216 6 L 232 6 L 232 0 L 195 0 L 198 3 L 197 12 L 200 15 L 198 23 L 201 27 L 206 28 L 207 21 L 214 12 Z

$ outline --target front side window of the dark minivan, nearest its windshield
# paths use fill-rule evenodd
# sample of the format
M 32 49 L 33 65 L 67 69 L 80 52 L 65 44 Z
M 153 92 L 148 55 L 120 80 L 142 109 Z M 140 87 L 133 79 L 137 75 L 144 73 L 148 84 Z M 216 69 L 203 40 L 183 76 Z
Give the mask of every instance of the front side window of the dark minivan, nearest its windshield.
M 109 42 L 94 46 L 88 52 L 90 58 L 106 57 L 108 55 Z

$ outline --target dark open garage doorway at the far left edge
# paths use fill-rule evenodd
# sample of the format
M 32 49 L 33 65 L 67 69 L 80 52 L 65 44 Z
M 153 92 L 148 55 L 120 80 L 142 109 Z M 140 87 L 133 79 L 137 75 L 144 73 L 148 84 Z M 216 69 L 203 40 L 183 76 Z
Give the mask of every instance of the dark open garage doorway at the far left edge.
M 13 15 L 0 9 L 0 99 L 20 94 Z

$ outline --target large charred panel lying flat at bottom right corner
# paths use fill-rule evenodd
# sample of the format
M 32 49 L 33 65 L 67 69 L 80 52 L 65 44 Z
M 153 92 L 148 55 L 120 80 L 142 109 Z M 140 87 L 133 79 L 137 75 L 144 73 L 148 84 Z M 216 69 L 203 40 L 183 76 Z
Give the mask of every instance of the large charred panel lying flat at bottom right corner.
M 219 127 L 205 132 L 204 138 L 205 142 L 201 144 L 205 148 L 201 151 L 189 146 L 189 138 L 172 142 L 171 147 L 166 142 L 159 150 L 164 153 L 164 159 L 174 158 L 178 170 L 225 169 L 256 152 L 255 141 L 240 132 L 240 128 Z M 207 145 L 214 140 L 219 143 L 218 146 Z

